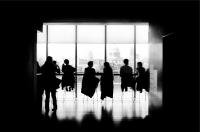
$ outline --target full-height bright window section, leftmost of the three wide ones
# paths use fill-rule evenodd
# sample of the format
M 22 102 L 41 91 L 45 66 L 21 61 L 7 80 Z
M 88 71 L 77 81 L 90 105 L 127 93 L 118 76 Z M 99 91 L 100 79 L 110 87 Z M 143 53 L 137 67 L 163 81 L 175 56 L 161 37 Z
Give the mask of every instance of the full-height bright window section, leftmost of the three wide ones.
M 64 59 L 75 66 L 75 25 L 48 25 L 48 55 L 60 67 Z

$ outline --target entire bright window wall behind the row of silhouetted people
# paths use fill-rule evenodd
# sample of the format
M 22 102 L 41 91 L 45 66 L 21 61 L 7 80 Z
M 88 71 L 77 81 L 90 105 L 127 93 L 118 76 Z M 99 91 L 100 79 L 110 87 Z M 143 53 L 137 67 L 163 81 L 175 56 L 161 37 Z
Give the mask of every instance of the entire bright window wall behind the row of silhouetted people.
M 149 68 L 148 24 L 45 24 L 38 32 L 37 61 L 43 65 L 52 56 L 62 66 L 64 59 L 77 69 L 77 89 L 80 94 L 82 74 L 88 61 L 94 62 L 96 72 L 103 72 L 108 61 L 113 68 L 114 92 L 120 90 L 119 70 L 123 59 L 135 70 L 141 61 Z

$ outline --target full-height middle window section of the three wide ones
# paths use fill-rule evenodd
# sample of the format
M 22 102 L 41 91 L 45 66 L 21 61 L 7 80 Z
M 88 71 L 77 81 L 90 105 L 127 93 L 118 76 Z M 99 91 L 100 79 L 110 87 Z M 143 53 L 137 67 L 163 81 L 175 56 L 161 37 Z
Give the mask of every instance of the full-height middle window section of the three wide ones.
M 88 61 L 94 62 L 96 72 L 103 71 L 105 58 L 105 26 L 77 26 L 77 72 L 83 73 Z

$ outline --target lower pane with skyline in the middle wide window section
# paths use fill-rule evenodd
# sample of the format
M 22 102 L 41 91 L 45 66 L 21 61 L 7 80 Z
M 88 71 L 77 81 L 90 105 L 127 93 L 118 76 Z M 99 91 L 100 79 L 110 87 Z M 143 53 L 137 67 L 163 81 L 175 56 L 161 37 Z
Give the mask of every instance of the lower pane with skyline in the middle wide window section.
M 84 72 L 89 61 L 94 61 L 93 68 L 96 72 L 103 72 L 105 48 L 103 44 L 78 44 L 77 71 Z

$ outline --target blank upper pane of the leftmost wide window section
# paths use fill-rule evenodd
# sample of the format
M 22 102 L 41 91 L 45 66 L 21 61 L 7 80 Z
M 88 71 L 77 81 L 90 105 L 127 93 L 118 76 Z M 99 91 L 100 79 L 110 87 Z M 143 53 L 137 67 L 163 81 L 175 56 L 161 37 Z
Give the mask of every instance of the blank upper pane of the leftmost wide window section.
M 75 43 L 75 25 L 48 25 L 49 43 Z

